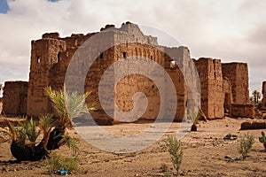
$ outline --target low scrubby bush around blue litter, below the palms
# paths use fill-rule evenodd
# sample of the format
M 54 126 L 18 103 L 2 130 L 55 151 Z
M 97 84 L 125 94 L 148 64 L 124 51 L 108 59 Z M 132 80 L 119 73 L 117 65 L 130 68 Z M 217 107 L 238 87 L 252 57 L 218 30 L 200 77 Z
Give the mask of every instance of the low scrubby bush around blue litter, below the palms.
M 50 158 L 45 160 L 50 173 L 55 173 L 61 167 L 64 167 L 68 172 L 76 171 L 78 170 L 78 161 L 77 156 L 64 157 L 56 152 L 52 152 Z

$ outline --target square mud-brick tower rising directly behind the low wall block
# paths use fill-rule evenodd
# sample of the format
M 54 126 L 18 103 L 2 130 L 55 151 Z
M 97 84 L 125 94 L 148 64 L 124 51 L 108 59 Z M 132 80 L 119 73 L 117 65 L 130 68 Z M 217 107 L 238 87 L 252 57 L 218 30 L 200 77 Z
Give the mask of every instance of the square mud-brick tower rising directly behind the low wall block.
M 231 81 L 234 104 L 249 104 L 248 68 L 246 63 L 226 63 L 222 65 L 223 77 Z

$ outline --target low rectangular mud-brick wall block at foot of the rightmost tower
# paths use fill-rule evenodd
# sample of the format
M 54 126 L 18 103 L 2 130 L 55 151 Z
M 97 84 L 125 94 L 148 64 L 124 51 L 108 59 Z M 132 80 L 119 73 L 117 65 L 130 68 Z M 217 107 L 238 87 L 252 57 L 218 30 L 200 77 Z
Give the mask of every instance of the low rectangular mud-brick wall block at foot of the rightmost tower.
M 231 116 L 254 118 L 254 104 L 231 104 Z

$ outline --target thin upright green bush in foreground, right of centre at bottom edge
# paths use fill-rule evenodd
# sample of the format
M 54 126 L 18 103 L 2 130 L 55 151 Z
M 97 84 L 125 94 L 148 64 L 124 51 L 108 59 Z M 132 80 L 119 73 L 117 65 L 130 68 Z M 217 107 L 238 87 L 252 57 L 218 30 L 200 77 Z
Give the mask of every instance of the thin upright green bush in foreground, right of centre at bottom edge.
M 183 150 L 180 141 L 176 140 L 174 136 L 168 136 L 168 152 L 178 175 L 182 163 Z

